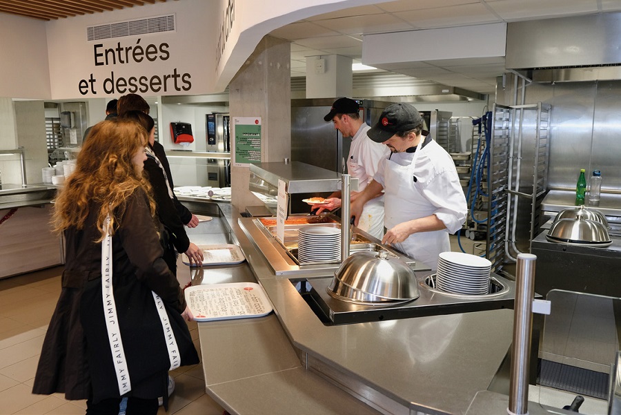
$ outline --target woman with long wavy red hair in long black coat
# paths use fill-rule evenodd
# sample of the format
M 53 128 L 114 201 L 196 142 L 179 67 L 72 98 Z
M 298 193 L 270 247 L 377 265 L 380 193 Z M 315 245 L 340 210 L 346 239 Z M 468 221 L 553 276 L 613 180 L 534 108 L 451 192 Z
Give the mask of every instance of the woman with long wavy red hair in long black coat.
M 86 399 L 88 415 L 155 415 L 171 367 L 199 363 L 142 177 L 147 139 L 132 120 L 99 122 L 55 200 L 66 264 L 32 392 Z

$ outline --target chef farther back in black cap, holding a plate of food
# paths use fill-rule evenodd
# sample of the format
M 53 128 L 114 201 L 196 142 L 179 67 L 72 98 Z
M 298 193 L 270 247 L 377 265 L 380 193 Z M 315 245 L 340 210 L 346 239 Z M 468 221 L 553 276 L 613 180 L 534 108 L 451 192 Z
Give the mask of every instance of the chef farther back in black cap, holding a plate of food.
M 351 137 L 347 172 L 352 178 L 358 179 L 358 191 L 351 193 L 353 202 L 359 192 L 362 192 L 373 180 L 380 162 L 391 152 L 386 146 L 368 138 L 366 132 L 371 127 L 362 122 L 359 116 L 359 104 L 354 99 L 337 99 L 330 112 L 324 117 L 324 121 L 333 122 L 334 128 L 340 131 L 343 137 Z M 317 213 L 321 213 L 324 210 L 336 209 L 341 206 L 341 192 L 332 193 L 326 202 L 326 204 L 314 204 L 311 210 L 317 209 Z M 382 239 L 384 236 L 384 196 L 381 192 L 366 201 L 358 216 L 357 226 L 369 235 Z

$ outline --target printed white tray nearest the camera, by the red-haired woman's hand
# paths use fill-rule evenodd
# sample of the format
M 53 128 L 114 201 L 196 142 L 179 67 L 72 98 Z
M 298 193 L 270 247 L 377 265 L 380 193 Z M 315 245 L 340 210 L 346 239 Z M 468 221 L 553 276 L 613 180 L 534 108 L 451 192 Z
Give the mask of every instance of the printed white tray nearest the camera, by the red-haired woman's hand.
M 267 316 L 272 305 L 255 282 L 194 285 L 184 290 L 197 321 L 233 320 Z

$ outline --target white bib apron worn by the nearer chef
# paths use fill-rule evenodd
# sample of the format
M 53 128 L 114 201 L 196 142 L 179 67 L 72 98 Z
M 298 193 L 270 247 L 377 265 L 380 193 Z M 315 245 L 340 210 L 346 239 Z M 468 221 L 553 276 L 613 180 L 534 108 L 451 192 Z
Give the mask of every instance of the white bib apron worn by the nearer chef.
M 386 160 L 384 170 L 384 211 L 386 215 L 386 229 L 409 220 L 424 218 L 437 210 L 424 197 L 420 190 L 421 177 L 414 181 L 416 160 L 422 151 L 424 137 L 418 144 L 412 162 L 400 166 L 391 160 Z M 424 262 L 434 271 L 437 268 L 437 255 L 444 251 L 451 251 L 449 233 L 446 230 L 413 233 L 403 242 L 393 244 L 393 247 L 409 257 Z

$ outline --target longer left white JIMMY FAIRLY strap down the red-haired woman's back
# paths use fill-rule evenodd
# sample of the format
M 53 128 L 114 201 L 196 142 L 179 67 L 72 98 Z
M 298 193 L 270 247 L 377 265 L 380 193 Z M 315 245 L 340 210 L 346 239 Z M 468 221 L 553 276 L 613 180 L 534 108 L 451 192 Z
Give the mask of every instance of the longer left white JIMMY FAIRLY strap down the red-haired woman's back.
M 103 229 L 106 230 L 106 238 L 101 242 L 101 296 L 103 298 L 103 314 L 106 316 L 106 328 L 108 329 L 108 340 L 112 351 L 112 363 L 115 365 L 117 383 L 119 383 L 119 394 L 124 395 L 132 390 L 129 371 L 127 369 L 127 359 L 123 349 L 123 341 L 119 330 L 119 318 L 117 316 L 117 305 L 115 296 L 112 293 L 112 237 L 108 232 L 110 216 L 103 222 Z

